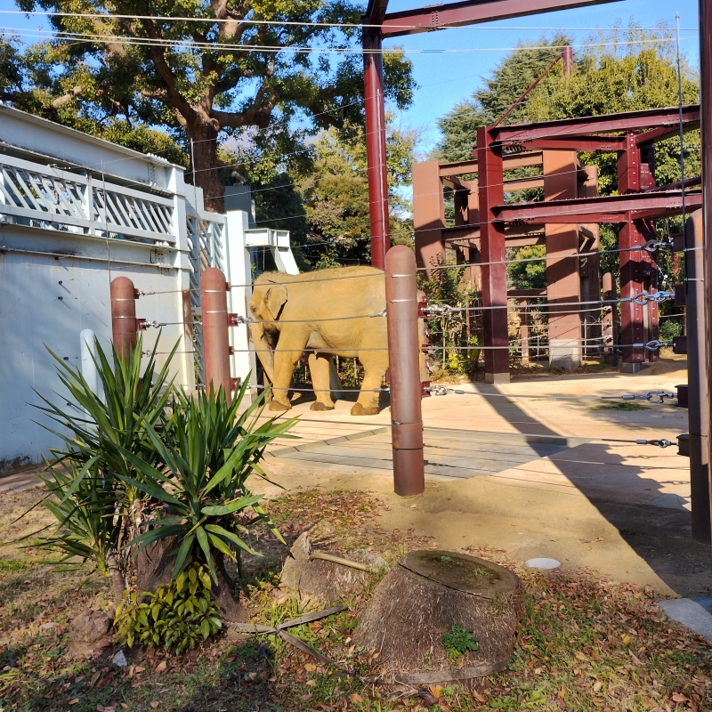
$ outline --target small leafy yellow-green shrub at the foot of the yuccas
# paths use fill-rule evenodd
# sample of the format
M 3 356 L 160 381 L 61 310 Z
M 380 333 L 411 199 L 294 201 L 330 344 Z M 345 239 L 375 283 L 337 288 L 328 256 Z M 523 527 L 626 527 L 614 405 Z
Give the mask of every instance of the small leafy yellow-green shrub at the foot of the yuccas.
M 121 643 L 129 648 L 138 641 L 147 648 L 163 644 L 180 654 L 217 633 L 222 624 L 211 594 L 212 581 L 205 566 L 193 563 L 155 594 L 125 593 L 118 605 L 115 625 Z

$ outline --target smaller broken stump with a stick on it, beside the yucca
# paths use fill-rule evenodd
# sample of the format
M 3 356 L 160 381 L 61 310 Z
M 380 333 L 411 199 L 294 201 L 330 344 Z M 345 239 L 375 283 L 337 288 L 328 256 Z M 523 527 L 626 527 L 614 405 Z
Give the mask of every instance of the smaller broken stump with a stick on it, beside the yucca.
M 295 591 L 302 601 L 326 607 L 359 594 L 368 581 L 368 571 L 323 559 L 310 560 L 312 542 L 306 532 L 297 538 L 290 554 L 282 567 L 281 585 Z M 368 549 L 358 549 L 345 558 L 375 570 L 385 565 L 379 554 Z

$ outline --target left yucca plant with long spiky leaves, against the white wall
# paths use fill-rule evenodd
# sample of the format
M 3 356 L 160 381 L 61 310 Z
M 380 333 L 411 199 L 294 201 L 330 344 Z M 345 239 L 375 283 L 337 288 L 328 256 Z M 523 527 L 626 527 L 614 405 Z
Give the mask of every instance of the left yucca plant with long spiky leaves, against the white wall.
M 171 436 L 166 406 L 174 394 L 168 381 L 170 361 L 177 348 L 157 371 L 158 342 L 142 368 L 142 340 L 127 360 L 116 351 L 107 354 L 96 343 L 96 366 L 103 400 L 92 391 L 84 376 L 59 356 L 57 370 L 67 403 L 58 405 L 42 394 L 39 409 L 60 428 L 41 423 L 57 435 L 63 447 L 44 458 L 43 480 L 53 498 L 45 498 L 57 519 L 44 548 L 61 554 L 60 561 L 80 556 L 93 562 L 111 577 L 115 596 L 125 588 L 128 552 L 125 543 L 139 532 L 142 520 L 142 491 L 125 479 L 141 479 L 122 453 L 131 452 L 154 465 L 158 457 L 148 433 L 156 428 Z M 124 479 L 118 475 L 124 475 Z

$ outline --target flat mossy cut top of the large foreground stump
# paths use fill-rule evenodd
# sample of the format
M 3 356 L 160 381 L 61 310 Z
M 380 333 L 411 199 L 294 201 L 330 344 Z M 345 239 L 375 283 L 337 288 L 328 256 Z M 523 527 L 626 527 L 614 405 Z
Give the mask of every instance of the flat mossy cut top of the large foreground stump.
M 451 551 L 412 551 L 401 566 L 457 591 L 491 598 L 517 586 L 512 571 L 477 556 Z

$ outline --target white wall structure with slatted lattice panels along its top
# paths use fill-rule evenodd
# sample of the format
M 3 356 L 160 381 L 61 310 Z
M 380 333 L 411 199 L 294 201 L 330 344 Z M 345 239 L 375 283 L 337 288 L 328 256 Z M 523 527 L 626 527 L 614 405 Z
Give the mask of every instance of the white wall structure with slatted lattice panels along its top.
M 225 271 L 229 308 L 242 315 L 250 245 L 295 271 L 288 233 L 251 230 L 247 210 L 211 214 L 202 202 L 181 166 L 0 105 L 0 474 L 41 461 L 55 441 L 34 422 L 37 393 L 61 400 L 47 348 L 78 367 L 82 330 L 110 347 L 111 279 L 132 279 L 137 317 L 165 325 L 161 355 L 181 341 L 174 374 L 190 390 L 200 270 Z M 142 334 L 149 349 L 158 328 Z M 232 375 L 244 378 L 255 364 L 245 326 L 231 329 L 231 344 Z

